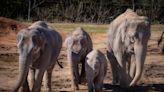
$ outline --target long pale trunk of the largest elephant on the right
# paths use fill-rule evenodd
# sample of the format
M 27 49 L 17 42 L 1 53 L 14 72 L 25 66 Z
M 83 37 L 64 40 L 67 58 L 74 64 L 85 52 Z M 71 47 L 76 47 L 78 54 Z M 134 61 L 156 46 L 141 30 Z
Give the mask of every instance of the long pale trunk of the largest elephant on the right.
M 134 52 L 135 52 L 135 60 L 136 60 L 136 73 L 131 81 L 129 86 L 135 86 L 136 83 L 139 81 L 141 78 L 142 72 L 143 72 L 143 67 L 144 67 L 144 62 L 145 62 L 145 57 L 146 57 L 146 52 L 147 52 L 147 43 L 135 43 L 134 45 Z

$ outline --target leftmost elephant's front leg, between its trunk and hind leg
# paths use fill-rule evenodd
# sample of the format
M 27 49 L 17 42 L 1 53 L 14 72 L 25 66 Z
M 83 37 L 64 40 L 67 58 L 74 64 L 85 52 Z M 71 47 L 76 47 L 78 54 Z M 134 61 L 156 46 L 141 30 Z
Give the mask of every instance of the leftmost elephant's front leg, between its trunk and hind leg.
M 41 92 L 41 84 L 44 75 L 45 69 L 36 69 L 35 73 L 35 82 L 32 87 L 32 92 Z

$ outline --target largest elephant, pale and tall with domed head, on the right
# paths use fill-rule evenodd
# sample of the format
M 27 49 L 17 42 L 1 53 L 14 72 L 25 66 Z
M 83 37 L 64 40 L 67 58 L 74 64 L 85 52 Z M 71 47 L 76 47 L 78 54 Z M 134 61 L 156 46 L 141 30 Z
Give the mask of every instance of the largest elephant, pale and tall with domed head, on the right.
M 148 18 L 130 9 L 111 22 L 107 57 L 111 63 L 113 84 L 121 87 L 136 85 L 143 72 L 149 38 Z

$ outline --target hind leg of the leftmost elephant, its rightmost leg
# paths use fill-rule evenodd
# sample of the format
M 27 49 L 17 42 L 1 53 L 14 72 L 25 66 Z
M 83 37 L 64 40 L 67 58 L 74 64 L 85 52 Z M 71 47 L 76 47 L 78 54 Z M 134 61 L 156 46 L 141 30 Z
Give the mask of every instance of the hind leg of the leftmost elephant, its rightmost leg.
M 54 65 L 50 67 L 47 71 L 44 73 L 44 91 L 50 92 L 51 91 L 51 79 L 52 79 L 52 71 L 53 71 Z

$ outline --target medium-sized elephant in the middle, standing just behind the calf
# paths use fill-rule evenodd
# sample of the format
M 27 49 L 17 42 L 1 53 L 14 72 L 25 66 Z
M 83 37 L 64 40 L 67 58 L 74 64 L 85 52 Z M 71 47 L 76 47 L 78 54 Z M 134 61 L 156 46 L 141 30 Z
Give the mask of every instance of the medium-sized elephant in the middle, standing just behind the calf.
M 78 84 L 86 80 L 85 58 L 93 48 L 92 41 L 89 34 L 83 28 L 78 27 L 66 38 L 65 45 L 67 48 L 67 58 L 71 65 L 73 89 L 78 90 Z M 82 64 L 81 74 L 79 74 L 79 63 Z

